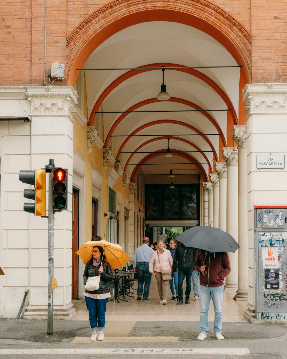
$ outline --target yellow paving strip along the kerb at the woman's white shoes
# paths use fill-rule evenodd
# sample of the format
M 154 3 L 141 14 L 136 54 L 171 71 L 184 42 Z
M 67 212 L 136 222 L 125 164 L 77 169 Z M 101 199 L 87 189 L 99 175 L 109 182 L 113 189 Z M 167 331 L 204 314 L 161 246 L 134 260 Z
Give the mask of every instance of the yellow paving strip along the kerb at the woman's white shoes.
M 178 342 L 178 337 L 167 337 L 167 336 L 154 336 L 154 337 L 114 337 L 114 336 L 109 336 L 107 337 L 105 334 L 105 339 L 103 340 L 104 342 L 109 342 L 109 343 L 121 343 L 121 342 L 172 342 L 172 343 L 177 343 Z M 75 337 L 72 341 L 72 343 L 90 343 L 90 337 Z

